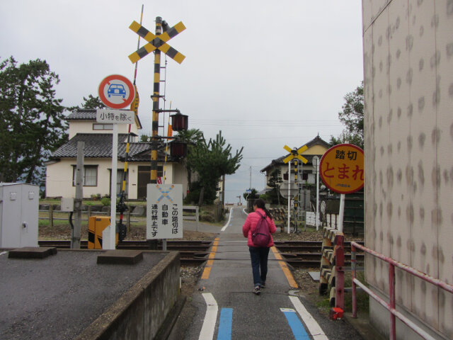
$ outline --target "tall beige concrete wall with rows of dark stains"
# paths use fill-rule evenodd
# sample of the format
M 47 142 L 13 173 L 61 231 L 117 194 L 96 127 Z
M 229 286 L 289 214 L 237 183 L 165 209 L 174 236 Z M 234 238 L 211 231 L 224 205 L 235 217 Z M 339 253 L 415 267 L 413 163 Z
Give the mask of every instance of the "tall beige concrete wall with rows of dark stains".
M 453 284 L 453 1 L 362 0 L 362 16 L 366 245 Z M 377 293 L 388 296 L 388 276 L 367 257 Z M 396 301 L 453 339 L 452 295 L 396 271 Z M 374 302 L 370 313 L 388 332 L 389 315 Z

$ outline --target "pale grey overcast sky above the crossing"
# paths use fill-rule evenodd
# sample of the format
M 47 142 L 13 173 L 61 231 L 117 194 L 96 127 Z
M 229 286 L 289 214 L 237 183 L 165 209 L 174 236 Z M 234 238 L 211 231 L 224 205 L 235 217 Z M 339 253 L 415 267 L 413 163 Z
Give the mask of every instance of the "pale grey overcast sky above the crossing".
M 318 134 L 328 141 L 343 130 L 343 97 L 363 79 L 360 0 L 4 0 L 0 59 L 46 60 L 59 75 L 57 98 L 79 105 L 110 74 L 133 79 L 127 56 L 138 36 L 129 26 L 142 4 L 151 32 L 156 16 L 186 27 L 168 41 L 186 58 L 167 58 L 166 108 L 171 102 L 207 139 L 222 130 L 233 151 L 244 147 L 241 167 L 226 177 L 226 202 L 239 200 L 250 174 L 251 187 L 262 190 L 260 169 L 286 154 L 285 145 L 301 147 Z M 144 57 L 137 74 L 147 135 L 153 63 L 152 54 Z

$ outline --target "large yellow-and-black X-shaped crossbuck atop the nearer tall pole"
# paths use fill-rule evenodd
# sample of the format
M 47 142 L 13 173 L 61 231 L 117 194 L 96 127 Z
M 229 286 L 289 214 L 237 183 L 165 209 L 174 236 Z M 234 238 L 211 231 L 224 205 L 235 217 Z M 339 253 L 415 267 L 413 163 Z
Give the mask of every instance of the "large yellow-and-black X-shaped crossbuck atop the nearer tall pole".
M 139 50 L 135 51 L 134 53 L 132 53 L 132 55 L 129 56 L 129 59 L 132 63 L 138 62 L 140 59 L 146 57 L 147 55 L 149 55 L 149 53 L 153 52 L 156 49 L 164 52 L 166 55 L 168 55 L 168 57 L 171 57 L 171 59 L 178 62 L 178 64 L 183 62 L 183 60 L 185 59 L 184 55 L 182 55 L 180 52 L 166 43 L 168 40 L 185 30 L 185 26 L 182 21 L 177 23 L 166 32 L 160 34 L 159 36 L 149 32 L 149 30 L 137 23 L 137 21 L 133 21 L 130 24 L 129 28 L 137 33 L 140 37 L 144 38 L 144 40 L 147 40 L 147 42 L 149 42 L 147 45 L 139 48 Z

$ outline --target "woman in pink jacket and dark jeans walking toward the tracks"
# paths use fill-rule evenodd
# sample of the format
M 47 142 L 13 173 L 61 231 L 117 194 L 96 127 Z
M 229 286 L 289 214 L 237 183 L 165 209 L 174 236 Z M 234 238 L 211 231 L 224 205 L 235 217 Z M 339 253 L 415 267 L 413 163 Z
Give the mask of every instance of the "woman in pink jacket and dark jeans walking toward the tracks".
M 256 225 L 261 216 L 266 216 L 268 221 L 270 234 L 275 233 L 277 229 L 275 223 L 272 219 L 272 215 L 265 208 L 264 200 L 258 198 L 253 203 L 253 211 L 248 214 L 246 222 L 242 226 L 243 237 L 247 237 L 248 250 L 250 251 L 250 258 L 252 261 L 252 272 L 253 272 L 253 284 L 255 285 L 255 290 L 253 293 L 260 295 L 261 288 L 265 288 L 266 276 L 268 275 L 268 256 L 269 249 L 274 245 L 272 236 L 267 246 L 256 246 L 252 242 L 252 234 L 256 229 Z

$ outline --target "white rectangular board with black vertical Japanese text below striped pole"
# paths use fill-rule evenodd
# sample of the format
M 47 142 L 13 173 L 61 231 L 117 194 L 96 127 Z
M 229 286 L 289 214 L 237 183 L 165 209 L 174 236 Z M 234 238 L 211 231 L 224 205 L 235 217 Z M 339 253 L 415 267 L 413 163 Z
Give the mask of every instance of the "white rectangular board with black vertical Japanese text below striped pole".
M 183 237 L 183 185 L 147 185 L 147 239 Z

